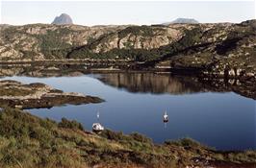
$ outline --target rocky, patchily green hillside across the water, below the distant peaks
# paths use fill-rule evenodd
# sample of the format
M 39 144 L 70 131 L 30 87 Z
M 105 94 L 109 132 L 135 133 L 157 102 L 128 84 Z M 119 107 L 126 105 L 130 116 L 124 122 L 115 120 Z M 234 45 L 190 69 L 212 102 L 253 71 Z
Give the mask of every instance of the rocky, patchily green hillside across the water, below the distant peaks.
M 0 60 L 135 60 L 254 76 L 256 20 L 168 26 L 0 26 Z M 141 65 L 140 65 L 141 66 Z M 234 70 L 235 69 L 235 70 Z M 255 74 L 256 77 L 256 74 Z

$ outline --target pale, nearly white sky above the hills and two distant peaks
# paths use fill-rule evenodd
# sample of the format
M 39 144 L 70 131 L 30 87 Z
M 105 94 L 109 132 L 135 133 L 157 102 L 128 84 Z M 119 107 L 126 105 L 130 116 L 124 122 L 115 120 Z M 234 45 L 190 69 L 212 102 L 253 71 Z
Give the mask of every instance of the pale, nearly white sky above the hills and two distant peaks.
M 80 25 L 150 25 L 178 17 L 201 23 L 255 19 L 255 1 L 2 1 L 0 23 L 51 23 L 67 13 Z

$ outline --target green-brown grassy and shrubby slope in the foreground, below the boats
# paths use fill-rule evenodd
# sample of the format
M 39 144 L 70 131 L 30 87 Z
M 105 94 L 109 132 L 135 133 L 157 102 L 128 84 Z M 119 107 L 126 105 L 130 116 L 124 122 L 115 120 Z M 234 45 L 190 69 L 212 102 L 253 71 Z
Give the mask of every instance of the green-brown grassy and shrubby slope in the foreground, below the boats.
M 218 152 L 192 139 L 154 144 L 139 134 L 86 132 L 76 121 L 57 123 L 26 111 L 0 112 L 0 167 L 205 167 L 254 165 L 256 152 Z

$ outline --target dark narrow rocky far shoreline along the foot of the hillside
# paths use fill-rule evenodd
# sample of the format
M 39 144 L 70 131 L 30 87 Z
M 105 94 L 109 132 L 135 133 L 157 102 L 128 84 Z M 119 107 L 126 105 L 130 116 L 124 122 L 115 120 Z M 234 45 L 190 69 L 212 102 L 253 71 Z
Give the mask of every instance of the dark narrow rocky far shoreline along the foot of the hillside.
M 199 77 L 212 77 L 219 79 L 240 79 L 256 81 L 256 74 L 246 72 L 240 68 L 230 68 L 223 71 L 212 71 L 202 67 L 171 67 L 169 65 L 162 65 L 150 67 L 146 65 L 146 61 L 135 60 L 0 60 L 2 68 L 6 67 L 30 67 L 30 66 L 49 66 L 52 65 L 50 70 L 55 66 L 60 65 L 78 65 L 83 66 L 87 72 L 153 72 L 153 73 L 169 73 L 174 75 L 193 75 Z M 1 76 L 1 73 L 0 73 Z

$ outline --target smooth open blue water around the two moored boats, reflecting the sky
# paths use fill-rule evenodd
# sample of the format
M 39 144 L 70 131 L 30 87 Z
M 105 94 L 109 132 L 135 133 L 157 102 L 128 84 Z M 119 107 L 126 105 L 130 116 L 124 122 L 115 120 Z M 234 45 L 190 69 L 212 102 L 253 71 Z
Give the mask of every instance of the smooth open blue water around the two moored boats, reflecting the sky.
M 64 91 L 83 92 L 106 100 L 102 104 L 32 109 L 32 113 L 61 120 L 75 119 L 90 130 L 100 111 L 106 128 L 122 132 L 141 132 L 155 142 L 192 137 L 218 149 L 256 149 L 255 104 L 235 93 L 197 93 L 153 95 L 129 93 L 88 76 L 60 78 L 13 77 L 25 83 L 44 83 Z M 162 121 L 167 109 L 169 122 Z

